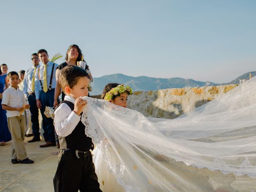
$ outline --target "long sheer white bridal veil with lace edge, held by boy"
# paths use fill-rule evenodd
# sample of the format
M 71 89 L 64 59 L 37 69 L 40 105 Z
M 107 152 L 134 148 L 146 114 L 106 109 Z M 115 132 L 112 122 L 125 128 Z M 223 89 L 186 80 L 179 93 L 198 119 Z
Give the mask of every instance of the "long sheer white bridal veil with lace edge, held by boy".
M 173 120 L 84 99 L 104 192 L 256 191 L 256 78 Z

